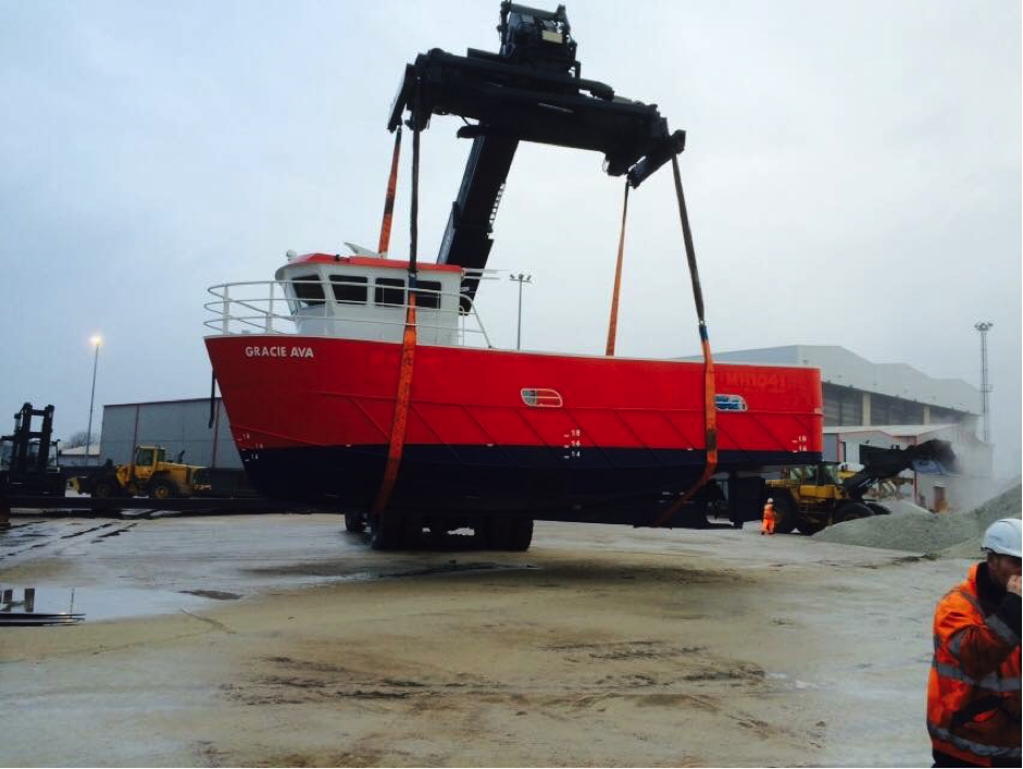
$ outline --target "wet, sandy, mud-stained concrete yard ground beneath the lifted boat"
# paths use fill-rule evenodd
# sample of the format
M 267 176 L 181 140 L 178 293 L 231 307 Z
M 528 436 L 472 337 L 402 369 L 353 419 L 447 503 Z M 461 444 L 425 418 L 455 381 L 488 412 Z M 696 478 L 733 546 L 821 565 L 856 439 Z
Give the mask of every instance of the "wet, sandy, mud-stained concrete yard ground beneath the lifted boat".
M 925 766 L 966 561 L 754 531 L 537 524 L 380 554 L 333 516 L 27 519 L 3 766 Z

